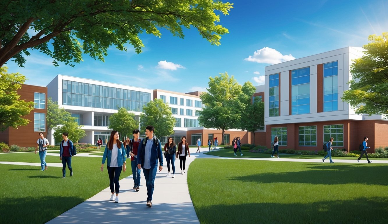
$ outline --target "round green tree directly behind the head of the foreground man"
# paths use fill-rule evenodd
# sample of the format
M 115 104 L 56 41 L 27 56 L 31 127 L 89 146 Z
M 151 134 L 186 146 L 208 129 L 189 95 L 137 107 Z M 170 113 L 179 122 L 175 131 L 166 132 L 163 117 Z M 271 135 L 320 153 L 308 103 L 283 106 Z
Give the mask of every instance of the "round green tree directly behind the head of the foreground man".
M 175 118 L 172 116 L 171 108 L 163 100 L 154 99 L 143 107 L 143 114 L 140 114 L 142 131 L 145 132 L 148 125 L 154 126 L 154 133 L 158 138 L 174 133 Z

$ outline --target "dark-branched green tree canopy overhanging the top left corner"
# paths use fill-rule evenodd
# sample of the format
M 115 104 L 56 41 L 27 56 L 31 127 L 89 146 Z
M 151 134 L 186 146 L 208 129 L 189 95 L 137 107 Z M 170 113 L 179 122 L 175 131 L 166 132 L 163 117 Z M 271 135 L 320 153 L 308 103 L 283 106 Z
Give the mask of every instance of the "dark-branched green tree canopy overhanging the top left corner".
M 161 37 L 159 28 L 184 38 L 194 27 L 213 45 L 228 30 L 218 24 L 232 3 L 213 0 L 5 0 L 0 2 L 0 67 L 9 59 L 23 66 L 29 48 L 51 56 L 54 65 L 79 63 L 82 53 L 104 61 L 114 44 L 136 53 L 144 46 L 139 34 Z M 51 41 L 50 41 L 51 40 Z M 52 44 L 52 48 L 49 47 Z

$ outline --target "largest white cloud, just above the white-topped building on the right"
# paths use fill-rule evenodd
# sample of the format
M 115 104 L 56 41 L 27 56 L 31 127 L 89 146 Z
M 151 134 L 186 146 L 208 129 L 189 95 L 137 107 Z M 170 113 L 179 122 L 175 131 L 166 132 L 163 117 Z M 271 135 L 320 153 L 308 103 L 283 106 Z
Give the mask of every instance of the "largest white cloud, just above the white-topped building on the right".
M 257 50 L 253 53 L 253 56 L 249 55 L 248 58 L 245 58 L 246 61 L 253 61 L 257 63 L 268 63 L 268 64 L 277 64 L 284 61 L 290 61 L 295 59 L 291 54 L 283 55 L 279 51 L 269 47 L 263 47 L 260 50 Z

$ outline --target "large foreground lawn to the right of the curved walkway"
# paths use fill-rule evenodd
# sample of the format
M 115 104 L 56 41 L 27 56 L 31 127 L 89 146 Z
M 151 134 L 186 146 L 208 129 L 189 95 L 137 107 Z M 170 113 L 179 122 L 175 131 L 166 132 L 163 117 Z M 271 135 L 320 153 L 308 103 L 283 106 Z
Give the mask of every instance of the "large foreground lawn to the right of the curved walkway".
M 388 165 L 196 159 L 201 224 L 387 223 Z

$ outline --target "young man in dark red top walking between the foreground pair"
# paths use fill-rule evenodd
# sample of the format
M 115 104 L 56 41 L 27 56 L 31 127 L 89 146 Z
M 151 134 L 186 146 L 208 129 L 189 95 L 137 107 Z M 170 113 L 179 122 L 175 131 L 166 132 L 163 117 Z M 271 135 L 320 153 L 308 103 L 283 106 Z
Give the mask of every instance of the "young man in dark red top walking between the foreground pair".
M 137 149 L 139 148 L 140 144 L 140 131 L 138 129 L 133 130 L 133 139 L 131 141 L 131 151 L 129 154 L 131 155 L 131 168 L 132 168 L 132 177 L 133 182 L 135 185 L 133 185 L 133 190 L 139 191 L 140 190 L 140 173 L 142 172 L 141 169 L 137 168 Z

